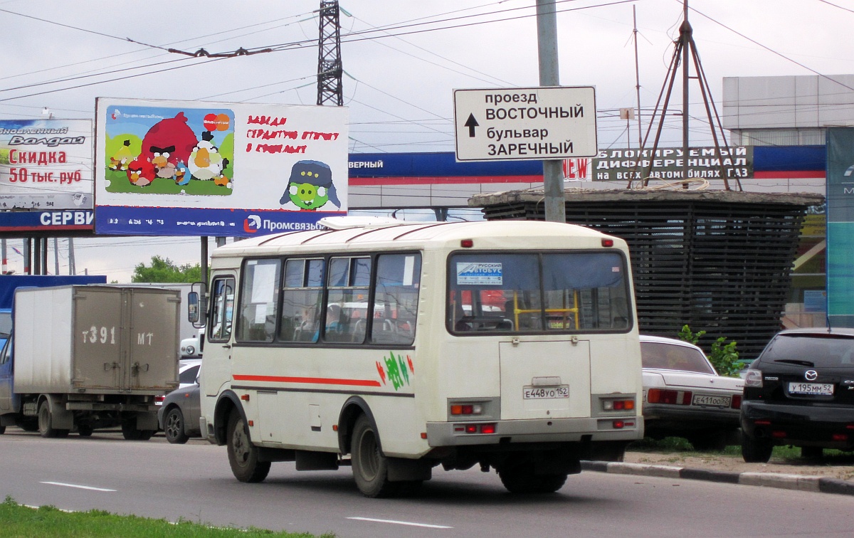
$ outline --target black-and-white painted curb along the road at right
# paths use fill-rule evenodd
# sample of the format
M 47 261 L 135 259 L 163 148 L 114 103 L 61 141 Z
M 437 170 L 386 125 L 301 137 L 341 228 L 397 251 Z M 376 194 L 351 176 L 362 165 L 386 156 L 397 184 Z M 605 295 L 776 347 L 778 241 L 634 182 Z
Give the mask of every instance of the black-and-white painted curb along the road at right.
M 708 469 L 689 469 L 670 465 L 629 464 L 609 461 L 582 461 L 582 471 L 610 472 L 620 475 L 642 477 L 683 478 L 686 480 L 705 480 L 707 482 L 725 482 L 765 488 L 794 489 L 820 493 L 854 495 L 854 482 L 837 478 L 806 477 L 769 472 L 731 472 L 710 471 Z

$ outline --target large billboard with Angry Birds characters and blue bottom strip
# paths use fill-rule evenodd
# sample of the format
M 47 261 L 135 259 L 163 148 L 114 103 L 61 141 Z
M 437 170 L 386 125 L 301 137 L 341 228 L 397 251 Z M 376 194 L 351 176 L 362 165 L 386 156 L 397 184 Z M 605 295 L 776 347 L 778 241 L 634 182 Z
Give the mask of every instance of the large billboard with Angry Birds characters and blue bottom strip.
M 347 109 L 97 99 L 95 231 L 249 237 L 347 212 Z

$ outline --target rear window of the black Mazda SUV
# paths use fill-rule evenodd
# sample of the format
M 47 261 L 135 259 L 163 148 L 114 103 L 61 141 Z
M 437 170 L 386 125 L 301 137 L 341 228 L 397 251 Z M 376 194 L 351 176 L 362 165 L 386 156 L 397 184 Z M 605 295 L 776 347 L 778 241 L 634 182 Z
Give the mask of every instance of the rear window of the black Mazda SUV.
M 833 334 L 779 335 L 763 351 L 762 361 L 824 367 L 851 366 L 854 365 L 854 338 Z

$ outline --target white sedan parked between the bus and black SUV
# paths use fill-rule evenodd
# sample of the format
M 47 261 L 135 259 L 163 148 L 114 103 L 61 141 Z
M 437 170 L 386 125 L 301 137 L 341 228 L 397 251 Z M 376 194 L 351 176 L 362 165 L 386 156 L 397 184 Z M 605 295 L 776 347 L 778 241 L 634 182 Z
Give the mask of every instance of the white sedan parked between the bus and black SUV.
M 738 444 L 744 380 L 722 377 L 697 346 L 640 336 L 646 436 L 685 437 L 697 450 Z

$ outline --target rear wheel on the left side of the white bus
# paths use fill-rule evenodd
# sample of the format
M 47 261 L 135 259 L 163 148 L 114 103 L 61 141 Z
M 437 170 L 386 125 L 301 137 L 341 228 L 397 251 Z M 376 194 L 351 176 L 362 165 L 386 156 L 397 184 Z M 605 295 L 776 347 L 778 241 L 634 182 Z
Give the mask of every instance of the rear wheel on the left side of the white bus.
M 389 482 L 389 460 L 379 452 L 377 432 L 365 415 L 353 427 L 353 477 L 366 497 L 388 497 L 397 493 L 397 482 Z

